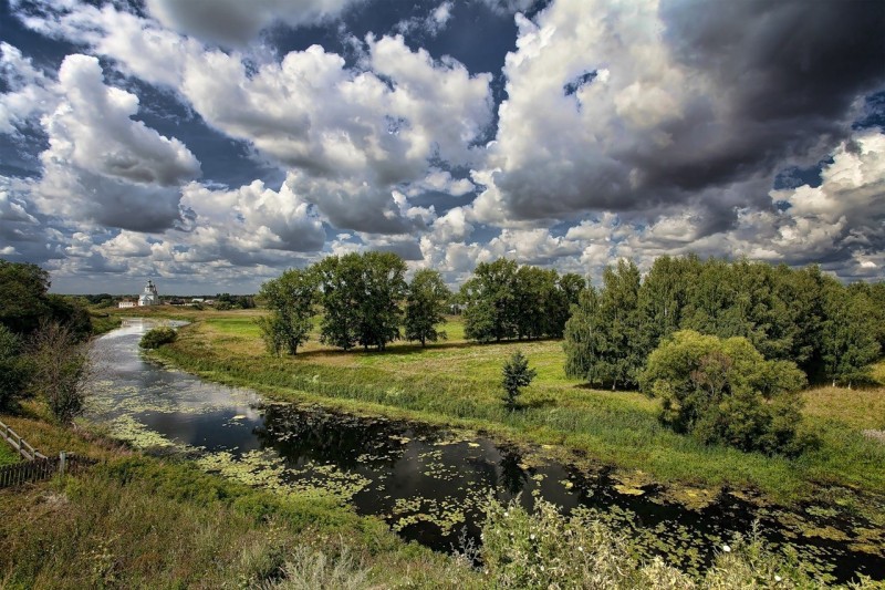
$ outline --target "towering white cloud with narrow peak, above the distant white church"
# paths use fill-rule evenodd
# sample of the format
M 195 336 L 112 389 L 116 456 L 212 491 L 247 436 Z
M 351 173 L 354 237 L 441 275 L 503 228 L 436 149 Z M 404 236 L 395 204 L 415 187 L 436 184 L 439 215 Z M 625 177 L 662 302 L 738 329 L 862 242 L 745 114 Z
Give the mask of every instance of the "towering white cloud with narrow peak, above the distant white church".
M 55 108 L 42 117 L 50 147 L 32 199 L 46 215 L 138 231 L 180 220 L 180 185 L 200 173 L 181 142 L 132 117 L 138 97 L 104 83 L 96 58 L 69 55 Z

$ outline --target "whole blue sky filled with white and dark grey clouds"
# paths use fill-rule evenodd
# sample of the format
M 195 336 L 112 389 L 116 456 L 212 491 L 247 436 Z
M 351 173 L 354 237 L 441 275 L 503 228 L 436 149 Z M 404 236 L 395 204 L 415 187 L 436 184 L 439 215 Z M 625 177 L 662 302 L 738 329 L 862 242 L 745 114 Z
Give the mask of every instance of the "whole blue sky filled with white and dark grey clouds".
M 885 279 L 881 0 L 0 0 L 0 258 L 250 293 L 386 250 Z

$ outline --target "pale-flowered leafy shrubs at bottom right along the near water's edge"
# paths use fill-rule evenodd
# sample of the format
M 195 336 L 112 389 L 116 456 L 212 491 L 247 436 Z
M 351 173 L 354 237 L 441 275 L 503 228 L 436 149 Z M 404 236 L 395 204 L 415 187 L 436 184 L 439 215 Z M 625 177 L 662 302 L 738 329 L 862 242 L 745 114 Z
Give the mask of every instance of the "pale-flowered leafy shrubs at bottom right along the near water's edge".
M 605 588 L 612 590 L 731 588 L 824 588 L 794 560 L 775 555 L 752 530 L 723 546 L 707 572 L 695 578 L 662 558 L 643 562 L 624 532 L 600 516 L 577 508 L 570 516 L 555 505 L 535 500 L 528 513 L 518 501 L 487 503 L 481 557 L 493 588 Z M 868 579 L 856 588 L 875 588 Z

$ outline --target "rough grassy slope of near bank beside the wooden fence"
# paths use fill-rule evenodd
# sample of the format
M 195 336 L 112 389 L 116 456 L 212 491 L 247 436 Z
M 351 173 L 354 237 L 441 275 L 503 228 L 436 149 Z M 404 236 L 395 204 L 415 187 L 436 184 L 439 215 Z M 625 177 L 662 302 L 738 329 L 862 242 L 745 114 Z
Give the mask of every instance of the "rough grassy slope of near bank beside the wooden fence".
M 50 424 L 41 433 L 45 448 L 74 445 L 104 463 L 0 490 L 2 588 L 242 588 L 278 579 L 299 556 L 342 552 L 353 570 L 344 573 L 366 586 L 481 586 L 465 565 L 331 498 L 282 498 L 95 435 Z

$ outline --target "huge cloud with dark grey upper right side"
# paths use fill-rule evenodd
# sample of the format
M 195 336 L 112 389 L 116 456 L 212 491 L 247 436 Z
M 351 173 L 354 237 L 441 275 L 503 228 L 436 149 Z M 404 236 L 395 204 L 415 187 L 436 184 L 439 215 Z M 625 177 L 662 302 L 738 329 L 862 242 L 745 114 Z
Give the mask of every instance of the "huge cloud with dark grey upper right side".
M 766 199 L 730 187 L 816 162 L 885 82 L 885 15 L 870 2 L 558 0 L 517 21 L 476 205 L 492 222 L 674 205 L 733 222 Z

